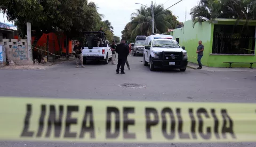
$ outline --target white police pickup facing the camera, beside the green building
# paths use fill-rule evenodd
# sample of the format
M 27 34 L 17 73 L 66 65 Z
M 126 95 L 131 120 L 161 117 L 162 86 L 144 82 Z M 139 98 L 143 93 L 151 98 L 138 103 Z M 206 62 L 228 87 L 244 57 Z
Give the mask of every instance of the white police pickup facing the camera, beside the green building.
M 144 66 L 150 65 L 150 70 L 155 68 L 172 68 L 186 71 L 188 64 L 185 47 L 172 39 L 171 35 L 151 35 L 146 38 L 143 51 Z

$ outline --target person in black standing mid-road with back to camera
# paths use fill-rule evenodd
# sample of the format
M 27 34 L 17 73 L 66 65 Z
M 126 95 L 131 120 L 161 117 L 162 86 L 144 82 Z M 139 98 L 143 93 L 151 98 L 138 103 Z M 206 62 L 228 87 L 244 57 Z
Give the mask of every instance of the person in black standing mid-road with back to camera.
M 127 56 L 129 55 L 129 46 L 125 44 L 125 40 L 121 40 L 121 44 L 118 44 L 116 46 L 116 52 L 118 54 L 118 63 L 117 63 L 117 69 L 116 74 L 119 74 L 119 69 L 121 66 L 121 74 L 125 74 L 124 72 L 124 64 L 127 60 Z

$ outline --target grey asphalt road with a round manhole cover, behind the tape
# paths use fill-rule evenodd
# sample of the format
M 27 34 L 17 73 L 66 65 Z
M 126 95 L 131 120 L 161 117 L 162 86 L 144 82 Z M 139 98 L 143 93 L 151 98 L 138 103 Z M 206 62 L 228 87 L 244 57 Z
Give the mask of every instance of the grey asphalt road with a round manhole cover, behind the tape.
M 68 61 L 43 70 L 0 70 L 0 96 L 50 97 L 54 99 L 180 101 L 180 102 L 256 102 L 255 72 L 202 71 L 187 69 L 150 71 L 143 66 L 142 56 L 129 56 L 131 70 L 116 75 L 116 66 L 95 62 L 75 68 Z M 131 89 L 120 84 L 142 84 Z M 0 146 L 256 146 L 256 143 L 39 143 L 0 142 Z

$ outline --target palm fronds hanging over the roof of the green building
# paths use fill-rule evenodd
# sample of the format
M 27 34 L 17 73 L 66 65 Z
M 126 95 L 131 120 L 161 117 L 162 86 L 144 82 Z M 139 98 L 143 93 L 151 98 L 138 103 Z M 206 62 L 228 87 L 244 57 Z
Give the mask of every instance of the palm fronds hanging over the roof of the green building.
M 214 18 L 225 19 L 256 19 L 256 1 L 248 0 L 201 0 L 191 9 L 190 15 L 194 22 L 211 22 Z

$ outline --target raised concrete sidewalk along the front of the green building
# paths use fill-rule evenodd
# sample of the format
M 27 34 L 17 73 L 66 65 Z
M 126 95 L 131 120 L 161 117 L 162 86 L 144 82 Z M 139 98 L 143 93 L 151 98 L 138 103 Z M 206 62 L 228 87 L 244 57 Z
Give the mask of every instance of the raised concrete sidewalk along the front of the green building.
M 188 67 L 196 70 L 204 70 L 204 71 L 241 71 L 241 72 L 256 72 L 256 68 L 213 68 L 213 67 L 205 67 L 202 69 L 197 69 L 198 64 L 188 62 Z

